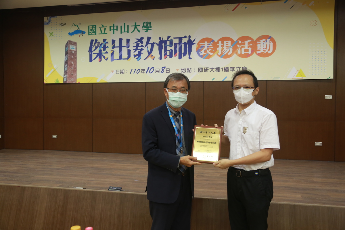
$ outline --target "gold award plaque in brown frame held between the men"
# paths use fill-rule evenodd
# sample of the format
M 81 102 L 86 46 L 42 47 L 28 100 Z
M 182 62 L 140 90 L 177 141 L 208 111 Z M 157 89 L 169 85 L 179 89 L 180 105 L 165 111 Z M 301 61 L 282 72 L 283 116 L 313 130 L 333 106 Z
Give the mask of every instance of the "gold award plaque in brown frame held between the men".
M 213 163 L 220 159 L 222 127 L 194 126 L 192 156 L 197 162 Z

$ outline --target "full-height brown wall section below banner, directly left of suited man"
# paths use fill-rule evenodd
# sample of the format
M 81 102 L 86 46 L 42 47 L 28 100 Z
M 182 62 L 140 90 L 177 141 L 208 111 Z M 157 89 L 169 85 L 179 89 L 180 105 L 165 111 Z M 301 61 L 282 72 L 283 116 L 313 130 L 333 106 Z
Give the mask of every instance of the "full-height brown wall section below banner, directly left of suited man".
M 141 153 L 145 83 L 93 84 L 93 151 Z

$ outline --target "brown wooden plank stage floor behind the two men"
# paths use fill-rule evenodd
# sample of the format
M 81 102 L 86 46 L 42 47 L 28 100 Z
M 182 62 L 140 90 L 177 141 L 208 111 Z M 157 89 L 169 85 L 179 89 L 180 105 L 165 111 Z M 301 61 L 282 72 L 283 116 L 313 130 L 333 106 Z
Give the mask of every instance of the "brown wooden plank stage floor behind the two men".
M 345 207 L 345 162 L 275 160 L 273 202 Z M 195 197 L 226 199 L 226 173 L 195 167 Z M 147 162 L 141 154 L 0 150 L 0 184 L 144 193 Z

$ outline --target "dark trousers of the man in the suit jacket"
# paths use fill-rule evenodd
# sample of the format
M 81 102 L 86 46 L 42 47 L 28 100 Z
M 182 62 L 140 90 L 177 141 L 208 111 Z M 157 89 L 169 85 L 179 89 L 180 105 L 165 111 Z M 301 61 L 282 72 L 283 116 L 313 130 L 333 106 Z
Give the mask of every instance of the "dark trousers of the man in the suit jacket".
M 151 230 L 190 230 L 192 193 L 189 173 L 180 176 L 180 191 L 174 203 L 150 201 Z

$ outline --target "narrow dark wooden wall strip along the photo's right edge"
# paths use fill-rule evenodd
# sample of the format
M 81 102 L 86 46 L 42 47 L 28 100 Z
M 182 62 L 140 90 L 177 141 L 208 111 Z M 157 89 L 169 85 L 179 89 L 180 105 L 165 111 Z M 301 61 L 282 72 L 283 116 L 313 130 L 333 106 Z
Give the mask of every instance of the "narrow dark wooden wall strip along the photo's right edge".
M 345 161 L 345 2 L 337 1 L 335 160 Z

